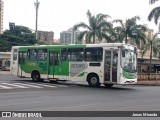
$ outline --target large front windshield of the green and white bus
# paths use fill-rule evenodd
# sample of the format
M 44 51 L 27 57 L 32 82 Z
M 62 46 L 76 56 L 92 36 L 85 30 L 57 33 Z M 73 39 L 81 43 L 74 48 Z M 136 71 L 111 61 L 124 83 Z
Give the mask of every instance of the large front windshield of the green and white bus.
M 136 72 L 137 70 L 137 57 L 135 50 L 122 49 L 121 51 L 121 67 L 126 72 Z

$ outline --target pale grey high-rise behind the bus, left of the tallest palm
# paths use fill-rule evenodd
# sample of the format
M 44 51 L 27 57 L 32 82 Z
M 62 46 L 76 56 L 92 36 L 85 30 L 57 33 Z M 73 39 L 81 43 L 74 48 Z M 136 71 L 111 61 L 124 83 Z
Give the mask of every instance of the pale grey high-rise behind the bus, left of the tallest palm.
M 78 41 L 78 36 L 80 31 L 74 31 L 73 28 L 68 29 L 67 31 L 63 31 L 60 33 L 60 43 L 61 44 L 77 44 L 81 43 Z

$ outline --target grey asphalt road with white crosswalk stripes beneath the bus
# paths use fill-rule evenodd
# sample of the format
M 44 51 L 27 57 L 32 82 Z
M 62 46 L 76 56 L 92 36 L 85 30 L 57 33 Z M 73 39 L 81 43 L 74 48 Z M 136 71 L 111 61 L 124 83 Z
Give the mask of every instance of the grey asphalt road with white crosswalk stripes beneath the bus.
M 117 85 L 109 89 L 33 83 L 0 74 L 0 111 L 160 111 L 159 91 L 159 86 Z

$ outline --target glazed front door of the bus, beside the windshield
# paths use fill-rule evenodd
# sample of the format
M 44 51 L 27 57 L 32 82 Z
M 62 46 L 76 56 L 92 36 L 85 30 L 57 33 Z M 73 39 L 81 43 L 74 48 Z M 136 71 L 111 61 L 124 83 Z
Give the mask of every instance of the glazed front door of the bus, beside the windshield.
M 117 51 L 105 51 L 105 72 L 104 82 L 117 82 Z

